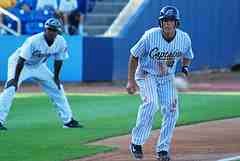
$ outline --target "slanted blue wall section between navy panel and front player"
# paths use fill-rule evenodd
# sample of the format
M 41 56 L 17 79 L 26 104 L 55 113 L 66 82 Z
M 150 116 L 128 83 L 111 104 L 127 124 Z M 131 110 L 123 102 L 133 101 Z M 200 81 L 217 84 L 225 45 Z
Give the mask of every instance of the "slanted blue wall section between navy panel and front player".
M 127 78 L 128 57 L 130 48 L 137 42 L 145 30 L 157 26 L 159 5 L 145 0 L 139 10 L 128 18 L 120 38 L 114 43 L 114 70 L 113 80 L 124 80 Z

